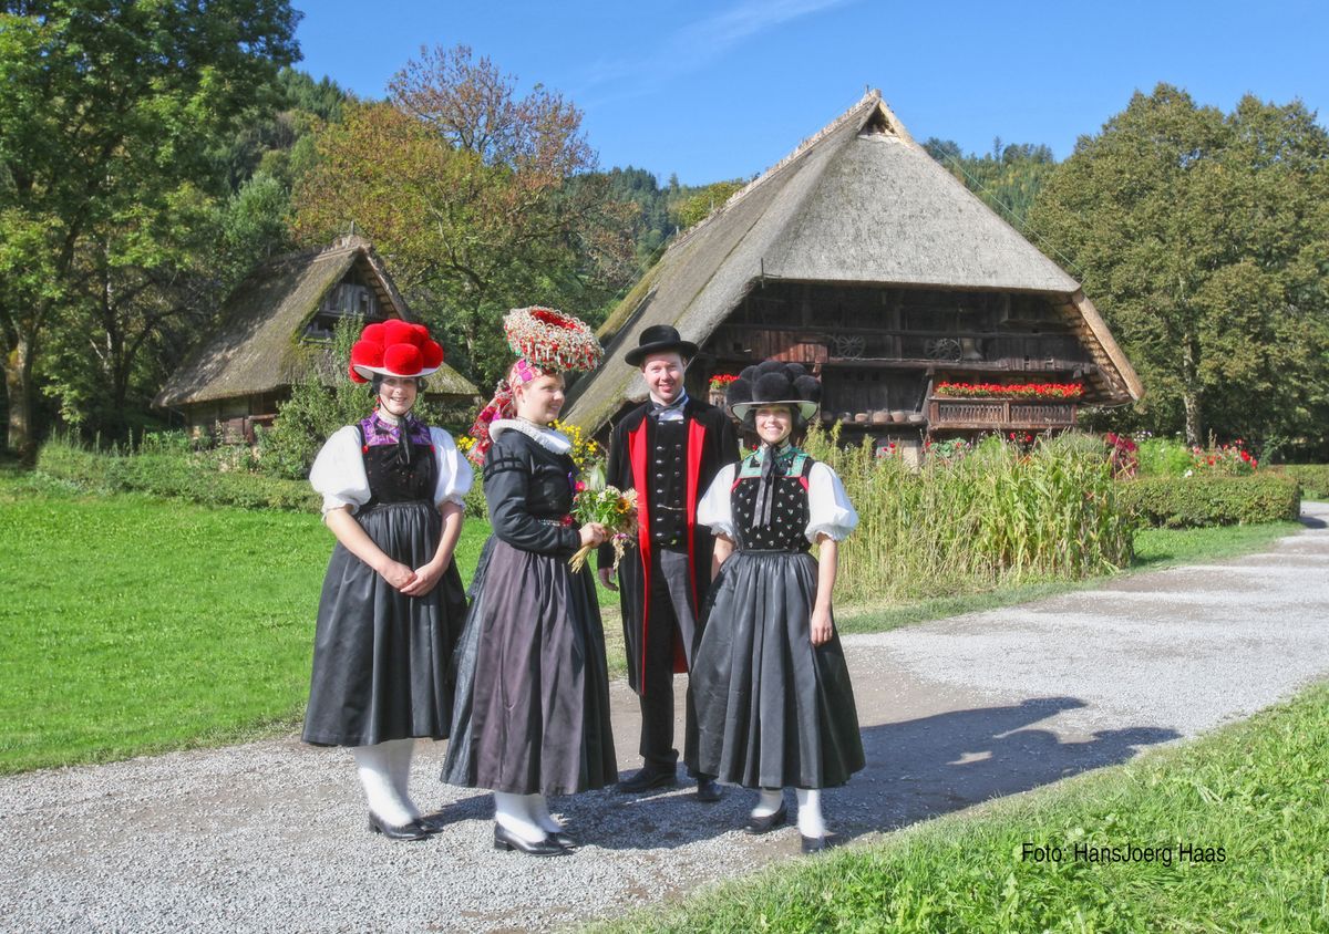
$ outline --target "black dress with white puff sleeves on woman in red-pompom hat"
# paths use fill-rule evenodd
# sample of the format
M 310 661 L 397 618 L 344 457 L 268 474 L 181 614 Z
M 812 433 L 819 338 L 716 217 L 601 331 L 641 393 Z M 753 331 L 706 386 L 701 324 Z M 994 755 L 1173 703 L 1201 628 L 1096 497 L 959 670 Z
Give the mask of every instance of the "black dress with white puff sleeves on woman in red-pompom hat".
M 470 473 L 445 432 L 413 422 L 407 460 L 399 444 L 356 444 L 365 430 L 373 441 L 373 426 L 375 419 L 367 419 L 330 438 L 311 478 L 326 496 L 352 488 L 363 496 L 367 481 L 368 501 L 356 521 L 393 561 L 420 567 L 433 558 L 443 529 L 436 496 L 448 482 L 440 484 L 440 470 L 464 473 L 465 488 Z M 363 473 L 351 461 L 356 456 Z M 319 599 L 304 741 L 445 739 L 452 723 L 448 662 L 465 610 L 456 562 L 427 595 L 407 597 L 338 542 Z

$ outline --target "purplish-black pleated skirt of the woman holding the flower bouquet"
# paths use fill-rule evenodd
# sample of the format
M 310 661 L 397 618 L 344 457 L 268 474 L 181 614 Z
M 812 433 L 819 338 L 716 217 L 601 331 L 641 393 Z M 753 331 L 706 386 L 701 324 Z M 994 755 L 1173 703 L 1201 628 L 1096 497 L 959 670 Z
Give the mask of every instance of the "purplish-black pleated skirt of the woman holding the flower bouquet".
M 443 780 L 514 794 L 571 794 L 618 779 L 609 670 L 587 565 L 490 537 L 456 654 Z

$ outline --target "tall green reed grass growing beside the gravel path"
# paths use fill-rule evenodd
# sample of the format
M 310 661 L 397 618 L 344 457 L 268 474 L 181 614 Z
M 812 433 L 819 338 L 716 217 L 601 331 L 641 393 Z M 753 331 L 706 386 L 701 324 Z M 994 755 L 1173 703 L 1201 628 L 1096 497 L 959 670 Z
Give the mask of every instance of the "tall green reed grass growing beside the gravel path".
M 881 603 L 1108 574 L 1130 563 L 1135 519 L 1103 442 L 1067 433 L 1027 450 L 989 437 L 954 458 L 877 457 L 816 426 L 804 448 L 844 481 L 859 529 L 836 597 Z

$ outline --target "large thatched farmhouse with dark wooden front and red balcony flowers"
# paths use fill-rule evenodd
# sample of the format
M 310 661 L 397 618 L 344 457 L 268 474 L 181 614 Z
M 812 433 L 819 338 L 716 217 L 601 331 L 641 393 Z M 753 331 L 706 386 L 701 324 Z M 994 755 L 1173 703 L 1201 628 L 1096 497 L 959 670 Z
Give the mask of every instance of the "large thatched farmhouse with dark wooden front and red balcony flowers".
M 1078 379 L 1082 401 L 1108 405 L 1143 392 L 1079 283 L 933 161 L 880 92 L 670 246 L 601 328 L 606 363 L 565 419 L 598 430 L 645 397 L 623 353 L 653 324 L 702 348 L 694 395 L 780 356 L 817 368 L 824 408 L 849 424 L 897 409 L 922 425 L 941 379 Z

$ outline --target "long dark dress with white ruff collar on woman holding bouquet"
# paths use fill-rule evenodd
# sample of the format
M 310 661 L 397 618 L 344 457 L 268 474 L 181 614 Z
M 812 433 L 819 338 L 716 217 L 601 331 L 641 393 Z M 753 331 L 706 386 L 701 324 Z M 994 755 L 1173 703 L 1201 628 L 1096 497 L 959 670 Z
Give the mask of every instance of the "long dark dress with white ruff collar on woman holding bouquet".
M 605 634 L 590 566 L 567 513 L 562 436 L 496 421 L 485 456 L 493 535 L 472 582 L 456 655 L 456 709 L 443 780 L 516 794 L 570 794 L 618 777 Z M 550 440 L 553 438 L 553 441 Z

